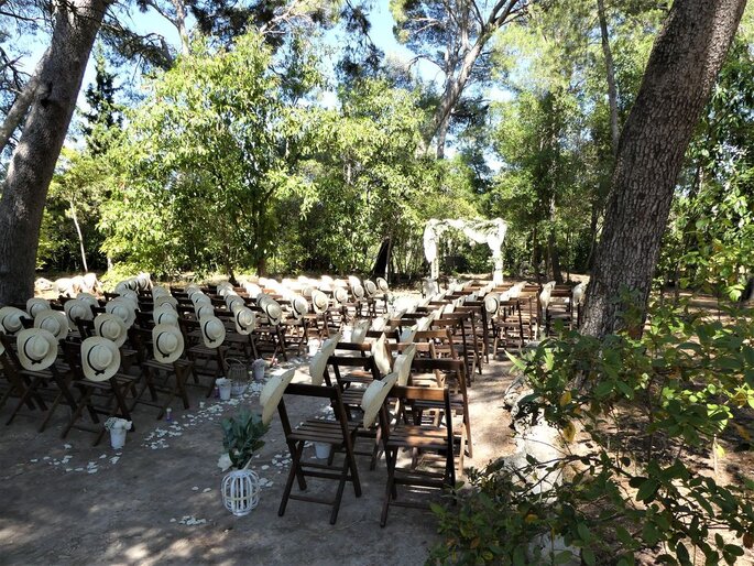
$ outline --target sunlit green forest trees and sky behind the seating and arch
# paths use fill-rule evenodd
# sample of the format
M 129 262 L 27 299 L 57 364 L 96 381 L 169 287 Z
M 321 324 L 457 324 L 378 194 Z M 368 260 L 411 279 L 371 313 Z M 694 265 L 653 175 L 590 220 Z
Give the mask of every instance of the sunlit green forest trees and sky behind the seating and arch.
M 449 17 L 472 4 L 391 2 L 409 59 L 372 41 L 369 2 L 116 7 L 51 186 L 37 266 L 114 264 L 116 279 L 368 272 L 390 237 L 395 271 L 416 275 L 427 219 L 501 217 L 510 273 L 588 271 L 618 131 L 668 7 L 511 4 L 487 29 L 476 22 L 492 13 Z M 119 24 L 140 9 L 142 31 Z M 10 62 L 18 34 L 44 32 L 45 18 L 28 15 L 6 20 Z M 166 25 L 179 44 L 160 35 Z M 687 151 L 660 283 L 743 290 L 751 63 L 750 9 Z M 490 272 L 489 251 L 457 236 L 446 270 Z

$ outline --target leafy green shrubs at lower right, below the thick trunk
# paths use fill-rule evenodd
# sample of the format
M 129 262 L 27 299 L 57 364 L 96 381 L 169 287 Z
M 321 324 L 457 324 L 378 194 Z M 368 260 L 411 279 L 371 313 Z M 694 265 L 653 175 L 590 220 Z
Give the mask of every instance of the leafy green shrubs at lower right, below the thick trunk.
M 436 509 L 445 541 L 430 562 L 560 564 L 572 553 L 627 565 L 651 551 L 663 564 L 696 553 L 735 563 L 754 542 L 754 481 L 722 485 L 692 465 L 700 453 L 722 458 L 721 439 L 750 439 L 752 313 L 728 314 L 723 325 L 655 307 L 641 339 L 562 333 L 516 360 L 533 388 L 522 402 L 561 432 L 562 456 L 472 472 L 458 507 Z M 548 488 L 549 475 L 562 485 Z

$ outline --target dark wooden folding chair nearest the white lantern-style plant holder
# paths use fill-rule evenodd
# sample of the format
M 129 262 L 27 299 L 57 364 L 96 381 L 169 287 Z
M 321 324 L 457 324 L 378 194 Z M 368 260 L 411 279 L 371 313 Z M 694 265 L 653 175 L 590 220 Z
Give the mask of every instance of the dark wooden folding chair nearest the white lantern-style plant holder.
M 343 407 L 340 388 L 337 385 L 310 385 L 306 383 L 291 383 L 285 389 L 285 395 L 299 395 L 313 399 L 327 399 L 335 412 L 335 421 L 321 421 L 317 418 L 307 420 L 295 428 L 291 426 L 291 420 L 285 407 L 284 399 L 281 398 L 277 404 L 277 412 L 285 433 L 285 442 L 291 450 L 292 465 L 288 471 L 288 478 L 283 491 L 283 499 L 281 500 L 278 515 L 285 513 L 285 509 L 289 499 L 298 501 L 308 501 L 313 503 L 324 503 L 330 505 L 330 524 L 335 524 L 338 520 L 338 511 L 340 510 L 340 501 L 342 500 L 343 490 L 347 482 L 353 485 L 353 492 L 356 497 L 361 497 L 361 483 L 359 481 L 359 471 L 356 465 L 356 454 L 353 446 L 356 443 L 356 433 L 359 424 L 349 422 L 346 416 L 346 409 Z M 331 456 L 327 464 L 312 461 L 304 457 L 304 445 L 306 443 L 325 443 L 332 446 Z M 334 451 L 343 454 L 342 464 L 335 464 Z M 328 499 L 323 497 L 307 496 L 303 493 L 292 493 L 294 480 L 298 481 L 298 488 L 304 491 L 307 489 L 306 478 L 321 478 L 335 480 L 338 482 L 338 488 L 335 498 Z

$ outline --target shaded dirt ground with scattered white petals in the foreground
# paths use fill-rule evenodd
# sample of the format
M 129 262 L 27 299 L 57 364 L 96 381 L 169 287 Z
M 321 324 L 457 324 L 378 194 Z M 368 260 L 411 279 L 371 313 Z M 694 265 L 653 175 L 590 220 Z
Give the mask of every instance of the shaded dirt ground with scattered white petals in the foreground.
M 306 360 L 297 360 L 303 372 Z M 509 382 L 507 362 L 493 361 L 470 389 L 474 458 L 467 467 L 513 450 L 502 402 Z M 264 482 L 259 507 L 244 518 L 222 507 L 219 422 L 242 404 L 259 409 L 255 389 L 222 402 L 189 388 L 192 409 L 174 403 L 173 423 L 142 405 L 120 450 L 108 437 L 92 447 L 94 435 L 76 429 L 61 439 L 66 407 L 42 434 L 33 413 L 0 424 L 0 564 L 423 564 L 437 540 L 429 511 L 391 508 L 380 527 L 384 460 L 370 471 L 359 458 L 363 494 L 347 486 L 335 525 L 329 508 L 315 503 L 291 501 L 277 516 L 289 467 L 277 415 L 253 460 Z M 0 410 L 2 423 L 13 404 Z M 288 403 L 292 420 L 323 409 Z M 334 493 L 335 483 L 309 489 Z

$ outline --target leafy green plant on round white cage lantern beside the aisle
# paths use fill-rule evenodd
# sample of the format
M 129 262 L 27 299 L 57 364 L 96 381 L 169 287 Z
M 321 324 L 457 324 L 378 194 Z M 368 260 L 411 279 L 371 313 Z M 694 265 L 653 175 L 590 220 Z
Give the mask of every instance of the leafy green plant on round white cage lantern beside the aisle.
M 223 471 L 234 468 L 222 478 L 222 503 L 236 516 L 243 516 L 259 503 L 259 476 L 248 468 L 254 451 L 264 446 L 262 436 L 269 426 L 262 422 L 262 415 L 248 409 L 223 418 L 220 426 L 227 451 L 220 456 L 218 466 Z

